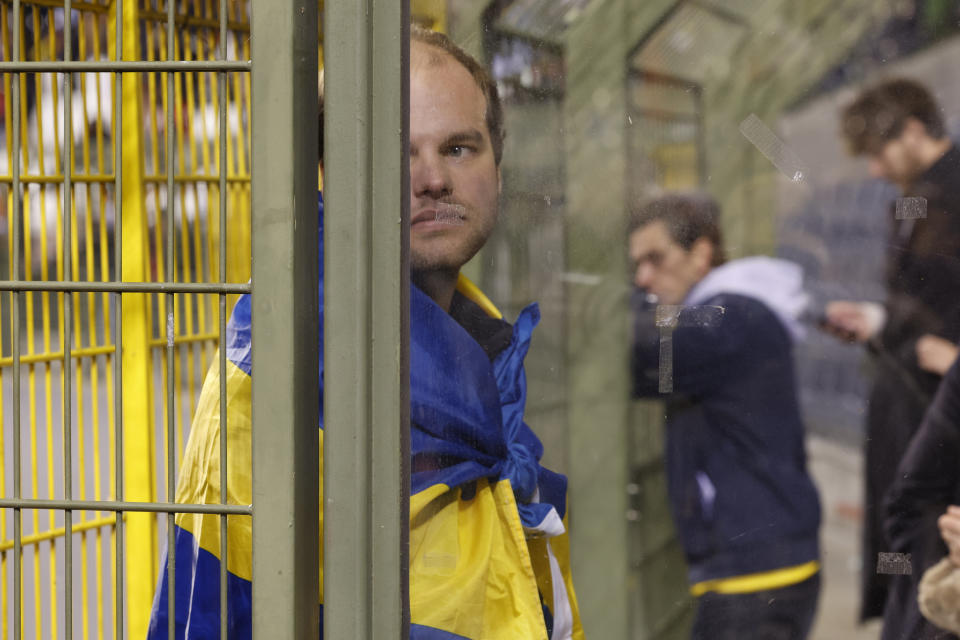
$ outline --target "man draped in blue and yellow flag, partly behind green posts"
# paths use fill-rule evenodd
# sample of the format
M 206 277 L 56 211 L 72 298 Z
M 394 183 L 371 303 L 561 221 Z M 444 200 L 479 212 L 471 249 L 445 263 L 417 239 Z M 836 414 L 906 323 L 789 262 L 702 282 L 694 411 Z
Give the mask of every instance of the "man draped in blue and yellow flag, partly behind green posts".
M 496 85 L 442 34 L 414 27 L 410 61 L 410 637 L 582 639 L 566 478 L 540 466 L 543 447 L 523 419 L 523 359 L 539 311 L 530 305 L 511 326 L 460 274 L 498 216 L 504 129 Z M 322 256 L 322 239 L 320 249 Z M 228 495 L 237 504 L 252 502 L 250 322 L 244 296 L 226 345 Z M 321 391 L 322 367 L 321 354 Z M 177 502 L 218 502 L 219 385 L 215 365 L 194 417 Z M 177 638 L 219 634 L 217 518 L 177 516 Z M 229 633 L 249 638 L 249 518 L 228 519 L 228 549 Z M 167 634 L 166 571 L 164 562 L 150 638 Z

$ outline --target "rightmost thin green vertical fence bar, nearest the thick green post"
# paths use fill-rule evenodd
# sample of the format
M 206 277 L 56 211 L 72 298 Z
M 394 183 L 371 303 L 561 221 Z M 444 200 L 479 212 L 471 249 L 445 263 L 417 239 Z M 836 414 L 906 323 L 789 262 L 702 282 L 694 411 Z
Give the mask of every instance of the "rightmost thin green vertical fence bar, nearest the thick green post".
M 227 59 L 227 0 L 220 0 L 219 58 Z M 220 282 L 227 281 L 227 73 L 217 72 L 220 115 Z M 220 294 L 220 502 L 227 503 L 227 296 Z M 227 516 L 220 516 L 220 640 L 227 640 Z

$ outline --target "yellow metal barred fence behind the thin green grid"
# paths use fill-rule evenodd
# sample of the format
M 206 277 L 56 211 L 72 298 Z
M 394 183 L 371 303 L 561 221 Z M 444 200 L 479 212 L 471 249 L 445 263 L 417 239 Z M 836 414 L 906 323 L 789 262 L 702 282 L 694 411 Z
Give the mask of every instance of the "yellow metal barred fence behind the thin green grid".
M 248 11 L 0 2 L 4 638 L 144 635 L 177 454 L 250 289 Z

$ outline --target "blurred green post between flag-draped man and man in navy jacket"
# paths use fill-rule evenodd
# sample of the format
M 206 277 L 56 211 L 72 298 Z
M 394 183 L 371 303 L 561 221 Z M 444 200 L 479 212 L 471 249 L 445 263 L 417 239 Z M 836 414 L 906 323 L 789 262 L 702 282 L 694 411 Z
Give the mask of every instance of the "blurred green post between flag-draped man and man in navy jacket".
M 593 3 L 566 33 L 567 269 L 602 274 L 567 287 L 570 544 L 583 626 L 628 638 L 626 0 Z M 595 43 L 603 42 L 602 48 Z M 602 98 L 602 99 L 600 99 Z M 591 185 L 602 184 L 602 189 Z

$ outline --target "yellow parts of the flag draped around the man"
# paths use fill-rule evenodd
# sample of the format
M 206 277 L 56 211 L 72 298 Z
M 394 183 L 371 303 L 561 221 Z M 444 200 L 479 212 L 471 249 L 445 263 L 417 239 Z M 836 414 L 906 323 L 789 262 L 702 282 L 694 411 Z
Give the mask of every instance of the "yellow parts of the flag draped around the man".
M 214 358 L 193 419 L 180 467 L 177 502 L 220 501 L 219 360 Z M 251 378 L 227 362 L 228 502 L 251 504 Z M 323 432 L 320 433 L 321 453 Z M 321 455 L 321 504 L 323 503 Z M 321 525 L 321 602 L 323 513 Z M 193 534 L 201 548 L 220 556 L 219 517 L 181 513 L 177 525 Z M 228 516 L 228 570 L 252 579 L 251 520 Z M 560 565 L 574 616 L 574 640 L 583 639 L 570 578 L 569 540 L 524 537 L 508 480 L 477 483 L 471 499 L 461 488 L 434 485 L 410 498 L 410 610 L 414 623 L 477 640 L 543 639 L 540 605 L 552 607 L 552 581 L 546 546 Z

